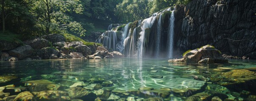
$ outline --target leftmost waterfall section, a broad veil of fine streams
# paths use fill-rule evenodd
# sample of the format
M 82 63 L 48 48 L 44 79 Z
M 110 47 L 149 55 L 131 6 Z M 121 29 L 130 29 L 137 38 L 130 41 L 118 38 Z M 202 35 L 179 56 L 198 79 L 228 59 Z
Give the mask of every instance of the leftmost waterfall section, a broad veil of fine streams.
M 115 50 L 116 45 L 116 33 L 115 31 L 104 32 L 98 39 L 98 43 L 102 43 L 107 48 Z

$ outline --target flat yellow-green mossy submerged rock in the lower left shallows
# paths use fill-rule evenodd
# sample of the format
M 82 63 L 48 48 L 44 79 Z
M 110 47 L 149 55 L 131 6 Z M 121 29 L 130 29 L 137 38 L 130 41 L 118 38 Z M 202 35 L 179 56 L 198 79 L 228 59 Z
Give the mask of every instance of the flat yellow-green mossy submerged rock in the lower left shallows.
M 60 85 L 55 84 L 49 80 L 32 80 L 25 81 L 25 86 L 33 92 L 43 91 L 43 90 L 58 90 Z

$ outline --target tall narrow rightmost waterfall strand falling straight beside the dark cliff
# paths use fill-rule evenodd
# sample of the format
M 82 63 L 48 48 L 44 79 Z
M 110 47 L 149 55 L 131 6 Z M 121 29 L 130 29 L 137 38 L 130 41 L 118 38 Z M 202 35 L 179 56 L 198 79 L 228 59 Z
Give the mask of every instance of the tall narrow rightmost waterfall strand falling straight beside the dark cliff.
M 167 42 L 167 58 L 173 58 L 173 37 L 174 37 L 174 10 L 172 11 L 172 15 L 169 19 L 169 29 L 168 29 L 168 42 Z

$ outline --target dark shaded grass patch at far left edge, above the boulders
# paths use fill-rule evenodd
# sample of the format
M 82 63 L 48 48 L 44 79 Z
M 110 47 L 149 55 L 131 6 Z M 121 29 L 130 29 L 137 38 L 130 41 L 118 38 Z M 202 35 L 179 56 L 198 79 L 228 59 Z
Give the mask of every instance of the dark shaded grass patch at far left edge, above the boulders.
M 20 40 L 22 37 L 21 35 L 14 34 L 11 32 L 0 32 L 0 41 L 6 41 L 9 43 L 16 43 L 19 45 L 23 45 L 23 42 Z

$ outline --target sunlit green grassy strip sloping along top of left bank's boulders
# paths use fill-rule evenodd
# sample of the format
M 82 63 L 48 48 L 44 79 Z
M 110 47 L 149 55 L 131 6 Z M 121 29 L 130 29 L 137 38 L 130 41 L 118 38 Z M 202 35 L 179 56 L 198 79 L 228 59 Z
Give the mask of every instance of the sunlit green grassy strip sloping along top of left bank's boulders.
M 71 35 L 71 34 L 67 34 L 67 33 L 61 34 L 61 35 L 65 37 L 67 42 L 82 41 L 82 43 L 87 46 L 94 45 L 94 44 L 96 44 L 98 46 L 102 46 L 102 44 L 100 44 L 100 43 L 86 42 L 86 41 L 82 40 L 81 38 L 76 37 L 75 35 Z

